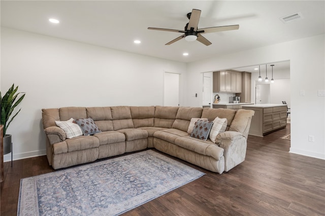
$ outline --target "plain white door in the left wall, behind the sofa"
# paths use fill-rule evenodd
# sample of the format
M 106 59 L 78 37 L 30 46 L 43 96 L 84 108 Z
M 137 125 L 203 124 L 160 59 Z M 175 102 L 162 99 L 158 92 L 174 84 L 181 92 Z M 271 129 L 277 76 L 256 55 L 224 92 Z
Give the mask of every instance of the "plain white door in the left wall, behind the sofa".
M 164 105 L 179 106 L 180 75 L 165 72 L 164 74 Z

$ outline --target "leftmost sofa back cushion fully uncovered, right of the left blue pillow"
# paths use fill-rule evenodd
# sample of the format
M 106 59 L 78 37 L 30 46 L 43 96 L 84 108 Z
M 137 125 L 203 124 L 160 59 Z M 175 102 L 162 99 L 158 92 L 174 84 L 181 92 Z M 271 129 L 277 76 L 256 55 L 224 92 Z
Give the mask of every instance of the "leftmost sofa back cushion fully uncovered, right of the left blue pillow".
M 129 106 L 111 106 L 114 130 L 134 128 Z

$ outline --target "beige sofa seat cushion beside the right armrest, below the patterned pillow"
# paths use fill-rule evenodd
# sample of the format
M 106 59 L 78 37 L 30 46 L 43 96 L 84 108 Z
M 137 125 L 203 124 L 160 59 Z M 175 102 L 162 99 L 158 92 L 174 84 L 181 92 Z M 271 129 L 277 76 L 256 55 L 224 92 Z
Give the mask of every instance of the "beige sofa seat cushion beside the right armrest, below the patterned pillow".
M 220 160 L 223 156 L 223 149 L 210 140 L 205 141 L 190 136 L 184 136 L 177 138 L 175 144 L 192 152 L 213 157 L 216 160 Z

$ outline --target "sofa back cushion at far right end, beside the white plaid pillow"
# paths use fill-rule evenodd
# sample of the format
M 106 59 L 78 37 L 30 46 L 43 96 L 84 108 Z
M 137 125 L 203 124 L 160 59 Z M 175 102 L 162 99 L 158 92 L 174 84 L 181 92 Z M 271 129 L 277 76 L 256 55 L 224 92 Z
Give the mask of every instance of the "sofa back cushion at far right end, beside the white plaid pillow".
M 229 130 L 240 132 L 247 139 L 250 122 L 253 115 L 254 111 L 252 110 L 238 110 L 232 124 L 230 125 Z

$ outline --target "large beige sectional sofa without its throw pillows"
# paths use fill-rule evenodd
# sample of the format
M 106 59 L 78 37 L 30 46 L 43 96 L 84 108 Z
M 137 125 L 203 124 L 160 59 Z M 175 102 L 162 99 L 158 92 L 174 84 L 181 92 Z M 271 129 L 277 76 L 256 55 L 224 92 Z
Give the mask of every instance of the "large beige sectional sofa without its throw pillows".
M 179 106 L 106 106 L 43 109 L 46 151 L 54 169 L 147 148 L 175 156 L 213 172 L 229 171 L 243 162 L 254 111 Z M 226 118 L 226 131 L 215 142 L 187 133 L 192 118 Z M 67 138 L 55 121 L 91 118 L 102 131 Z

